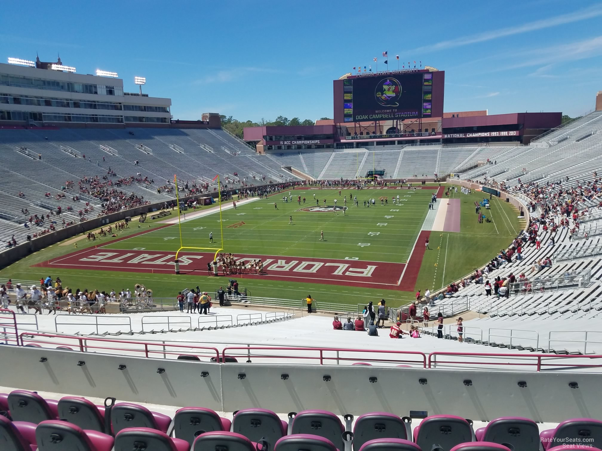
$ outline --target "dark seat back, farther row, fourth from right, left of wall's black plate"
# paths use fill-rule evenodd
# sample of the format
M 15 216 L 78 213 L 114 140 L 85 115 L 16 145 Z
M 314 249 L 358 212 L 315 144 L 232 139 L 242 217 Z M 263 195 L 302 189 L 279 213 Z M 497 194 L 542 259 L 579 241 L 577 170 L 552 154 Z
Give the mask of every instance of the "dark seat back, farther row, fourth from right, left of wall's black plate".
M 386 412 L 359 416 L 353 427 L 353 451 L 359 451 L 364 443 L 377 438 L 407 440 L 406 425 L 400 417 Z

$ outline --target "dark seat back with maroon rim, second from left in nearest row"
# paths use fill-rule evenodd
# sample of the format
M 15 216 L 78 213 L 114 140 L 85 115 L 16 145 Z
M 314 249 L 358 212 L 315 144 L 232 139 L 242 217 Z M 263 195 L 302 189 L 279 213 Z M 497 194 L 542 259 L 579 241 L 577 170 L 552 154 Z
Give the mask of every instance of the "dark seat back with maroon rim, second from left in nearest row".
M 60 420 L 41 422 L 36 428 L 38 451 L 96 451 L 79 426 Z

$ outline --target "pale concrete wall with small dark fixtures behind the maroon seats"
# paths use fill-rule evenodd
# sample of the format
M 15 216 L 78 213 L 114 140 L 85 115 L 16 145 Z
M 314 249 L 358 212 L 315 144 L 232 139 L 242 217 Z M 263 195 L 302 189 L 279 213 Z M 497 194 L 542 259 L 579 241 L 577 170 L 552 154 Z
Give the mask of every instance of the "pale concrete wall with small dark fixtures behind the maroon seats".
M 40 363 L 42 357 L 48 360 Z M 85 365 L 78 366 L 79 361 Z M 226 412 L 250 407 L 278 413 L 323 409 L 357 416 L 418 410 L 481 421 L 520 416 L 536 422 L 602 417 L 599 373 L 219 364 L 7 345 L 0 345 L 0 362 L 7 387 Z M 126 369 L 119 370 L 120 364 Z M 165 372 L 157 373 L 158 368 Z M 201 377 L 202 371 L 208 376 Z M 281 378 L 283 373 L 287 380 Z M 324 381 L 324 375 L 331 380 Z M 371 383 L 370 377 L 377 382 Z M 427 384 L 420 384 L 419 378 L 426 378 Z M 472 385 L 465 385 L 465 379 Z M 518 387 L 519 381 L 527 387 Z M 569 382 L 577 382 L 579 388 L 570 388 Z

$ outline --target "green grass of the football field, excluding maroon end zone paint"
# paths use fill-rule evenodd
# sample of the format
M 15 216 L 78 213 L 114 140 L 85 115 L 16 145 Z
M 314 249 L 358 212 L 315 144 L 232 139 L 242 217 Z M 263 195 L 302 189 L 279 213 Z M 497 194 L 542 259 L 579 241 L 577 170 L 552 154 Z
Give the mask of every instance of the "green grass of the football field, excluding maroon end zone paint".
M 427 207 L 433 190 L 418 189 L 415 193 L 396 189 L 364 189 L 343 190 L 339 196 L 337 190 L 297 189 L 293 191 L 293 201 L 282 202 L 282 196 L 288 191 L 274 195 L 268 199 L 259 199 L 239 206 L 236 210 L 224 210 L 222 213 L 223 247 L 226 252 L 234 254 L 252 254 L 257 256 L 304 257 L 306 259 L 353 259 L 352 262 L 390 262 L 406 263 L 420 233 Z M 346 215 L 341 212 L 299 211 L 304 207 L 297 204 L 296 197 L 306 198 L 305 207 L 315 206 L 315 197 L 320 206 L 333 205 L 337 198 L 337 206 L 344 205 L 343 196 L 347 197 Z M 356 195 L 359 207 L 353 206 L 349 195 Z M 400 206 L 393 205 L 391 198 L 400 195 Z M 388 204 L 380 206 L 380 196 L 388 197 Z M 414 289 L 438 289 L 444 284 L 457 280 L 471 272 L 477 266 L 491 259 L 506 247 L 516 236 L 524 224 L 517 219 L 517 211 L 509 203 L 492 200 L 489 216 L 491 223 L 477 224 L 474 213 L 474 201 L 482 195 L 453 194 L 461 198 L 461 231 L 432 232 L 430 247 L 426 251 L 420 266 L 418 279 Z M 364 200 L 373 197 L 376 206 L 364 207 Z M 445 201 L 440 199 L 439 201 Z M 278 210 L 274 207 L 278 204 Z M 231 204 L 231 203 L 228 203 Z M 188 210 L 190 215 L 190 210 Z M 293 216 L 293 225 L 289 225 L 289 217 Z M 221 247 L 219 212 L 199 219 L 182 222 L 182 240 L 187 247 Z M 244 222 L 239 227 L 228 228 L 237 222 Z M 150 274 L 149 272 L 98 271 L 95 269 L 31 267 L 36 263 L 46 262 L 58 256 L 81 251 L 86 247 L 103 247 L 103 251 L 111 250 L 144 250 L 169 251 L 175 253 L 179 248 L 178 224 L 159 230 L 158 221 L 148 221 L 138 229 L 137 222 L 132 222 L 131 229 L 120 233 L 120 238 L 128 237 L 141 231 L 149 231 L 143 235 L 124 239 L 113 244 L 104 245 L 111 238 L 102 238 L 96 242 L 81 240 L 78 248 L 73 244 L 53 245 L 43 251 L 26 257 L 0 271 L 0 278 L 5 280 L 38 280 L 51 274 L 60 276 L 63 284 L 81 289 L 119 290 L 132 287 L 135 283 L 144 283 L 154 290 L 154 295 L 173 297 L 178 291 L 190 286 L 200 286 L 211 292 L 227 283 L 226 277 L 209 277 L 205 272 L 193 274 Z M 325 241 L 319 241 L 320 231 L 324 231 Z M 214 244 L 209 244 L 208 235 L 213 232 Z M 369 245 L 367 245 L 369 244 Z M 418 245 L 423 246 L 420 242 Z M 357 260 L 355 260 L 357 259 Z M 435 266 L 436 264 L 436 266 Z M 43 265 L 42 265 L 43 266 Z M 300 299 L 311 293 L 314 298 L 325 302 L 342 302 L 355 305 L 375 298 L 386 298 L 389 305 L 400 305 L 413 299 L 414 291 L 400 291 L 379 287 L 356 287 L 344 284 L 315 283 L 307 280 L 267 280 L 261 278 L 238 279 L 240 287 L 246 287 L 252 296 L 268 296 L 274 298 Z M 391 304 L 393 302 L 393 304 Z

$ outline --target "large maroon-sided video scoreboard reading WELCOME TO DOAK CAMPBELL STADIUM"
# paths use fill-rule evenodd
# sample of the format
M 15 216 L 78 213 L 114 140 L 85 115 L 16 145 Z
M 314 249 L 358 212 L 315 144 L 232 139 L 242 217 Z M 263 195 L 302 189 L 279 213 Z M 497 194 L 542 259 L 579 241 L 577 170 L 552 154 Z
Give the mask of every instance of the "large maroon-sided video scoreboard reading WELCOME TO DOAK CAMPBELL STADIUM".
M 335 80 L 335 123 L 442 117 L 443 80 L 427 70 Z

